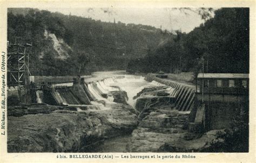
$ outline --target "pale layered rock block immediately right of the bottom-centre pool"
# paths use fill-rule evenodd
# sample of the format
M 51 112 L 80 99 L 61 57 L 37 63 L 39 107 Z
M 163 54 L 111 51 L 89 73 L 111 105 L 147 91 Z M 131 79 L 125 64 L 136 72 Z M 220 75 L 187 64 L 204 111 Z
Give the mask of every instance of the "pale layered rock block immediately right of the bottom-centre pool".
M 149 108 L 140 112 L 139 125 L 132 132 L 132 139 L 127 145 L 128 152 L 158 152 L 169 141 L 177 141 L 187 131 L 187 112 L 178 112 L 166 106 Z

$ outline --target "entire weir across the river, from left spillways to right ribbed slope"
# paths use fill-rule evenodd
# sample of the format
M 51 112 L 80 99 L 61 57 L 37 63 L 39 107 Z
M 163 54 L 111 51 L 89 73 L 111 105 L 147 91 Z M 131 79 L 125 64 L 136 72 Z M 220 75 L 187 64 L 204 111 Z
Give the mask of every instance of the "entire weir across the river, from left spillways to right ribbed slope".
M 151 82 L 146 83 L 145 79 Z M 167 86 L 165 92 L 170 97 L 174 97 L 173 104 L 177 110 L 190 111 L 194 107 L 196 88 L 192 84 L 159 79 L 158 77 L 149 79 L 149 76 L 134 75 L 105 77 L 102 80 L 93 82 L 87 82 L 88 78 L 82 78 L 80 80 L 79 83 L 52 84 L 50 94 L 53 99 L 51 101 L 55 101 L 59 105 L 79 106 L 87 104 L 98 105 L 100 108 L 106 104 L 113 103 L 114 98 L 111 92 L 123 90 L 129 96 L 127 102 L 135 106 L 136 99 L 133 99 L 133 97 L 144 88 Z M 131 82 L 134 83 L 134 86 L 130 86 L 132 84 Z M 45 91 L 36 91 L 37 103 L 49 103 L 49 99 L 43 99 L 44 94 Z M 49 95 L 49 91 L 47 94 Z

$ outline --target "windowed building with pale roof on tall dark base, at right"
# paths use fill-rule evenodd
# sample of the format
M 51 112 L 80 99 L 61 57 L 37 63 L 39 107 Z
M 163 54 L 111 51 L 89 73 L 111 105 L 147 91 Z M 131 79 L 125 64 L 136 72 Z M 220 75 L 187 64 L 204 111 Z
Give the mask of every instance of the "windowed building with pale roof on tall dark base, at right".
M 235 116 L 248 112 L 249 75 L 199 73 L 196 95 L 195 121 L 206 130 L 231 127 Z

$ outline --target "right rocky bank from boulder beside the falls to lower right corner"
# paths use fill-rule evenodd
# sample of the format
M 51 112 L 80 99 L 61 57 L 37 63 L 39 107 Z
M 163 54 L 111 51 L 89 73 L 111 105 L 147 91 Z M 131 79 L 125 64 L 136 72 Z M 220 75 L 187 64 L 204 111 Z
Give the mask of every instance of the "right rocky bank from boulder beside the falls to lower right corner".
M 138 98 L 139 122 L 126 145 L 127 152 L 232 152 L 232 140 L 241 133 L 238 127 L 205 133 L 189 130 L 190 111 L 177 111 L 163 89 L 145 88 L 134 97 Z

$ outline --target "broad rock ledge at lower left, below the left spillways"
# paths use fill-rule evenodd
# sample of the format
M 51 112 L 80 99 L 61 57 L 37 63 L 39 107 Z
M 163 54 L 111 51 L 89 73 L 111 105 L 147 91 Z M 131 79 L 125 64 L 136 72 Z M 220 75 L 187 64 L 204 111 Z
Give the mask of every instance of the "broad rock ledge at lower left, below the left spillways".
M 132 110 L 114 104 L 110 110 L 8 116 L 8 152 L 90 152 L 99 141 L 131 133 L 137 126 Z

